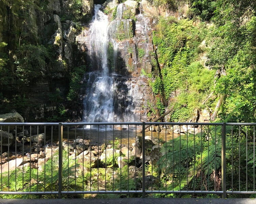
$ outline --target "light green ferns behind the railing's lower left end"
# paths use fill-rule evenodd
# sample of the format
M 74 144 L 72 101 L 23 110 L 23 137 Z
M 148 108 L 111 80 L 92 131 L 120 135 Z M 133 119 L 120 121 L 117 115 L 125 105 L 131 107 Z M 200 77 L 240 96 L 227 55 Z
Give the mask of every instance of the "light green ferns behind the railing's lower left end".
M 75 160 L 69 157 L 68 153 L 63 151 L 63 190 L 74 190 L 77 187 L 81 188 L 81 182 L 75 182 L 75 168 L 78 169 L 79 165 Z M 24 173 L 23 173 L 24 169 Z M 6 191 L 57 191 L 58 190 L 58 154 L 54 154 L 49 159 L 43 171 L 39 169 L 32 169 L 24 167 L 22 169 L 13 170 L 9 175 L 3 173 L 2 175 L 2 188 Z M 51 195 L 42 195 L 41 198 L 49 198 Z M 56 197 L 56 195 L 52 195 Z M 13 198 L 13 195 L 3 194 L 1 198 Z M 15 195 L 15 198 L 39 198 L 39 195 Z

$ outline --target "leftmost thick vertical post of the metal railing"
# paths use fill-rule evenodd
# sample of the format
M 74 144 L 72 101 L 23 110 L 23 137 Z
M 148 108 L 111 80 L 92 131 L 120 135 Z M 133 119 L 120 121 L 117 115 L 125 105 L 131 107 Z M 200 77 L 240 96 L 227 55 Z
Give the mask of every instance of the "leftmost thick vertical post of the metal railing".
M 61 190 L 62 190 L 62 140 L 63 140 L 63 125 L 59 123 L 59 185 L 58 185 L 58 198 L 62 198 Z

